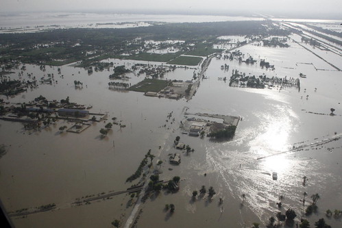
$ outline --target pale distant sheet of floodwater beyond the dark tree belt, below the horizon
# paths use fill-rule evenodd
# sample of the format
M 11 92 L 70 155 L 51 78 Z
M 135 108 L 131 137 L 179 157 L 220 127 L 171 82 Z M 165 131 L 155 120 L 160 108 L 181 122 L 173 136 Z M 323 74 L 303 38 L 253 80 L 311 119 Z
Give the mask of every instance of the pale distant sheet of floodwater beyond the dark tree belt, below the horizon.
M 36 32 L 42 29 L 88 27 L 122 28 L 143 27 L 150 23 L 200 23 L 212 21 L 263 21 L 258 16 L 212 16 L 212 15 L 174 15 L 174 14 L 97 14 L 70 12 L 35 12 L 21 14 L 0 14 L 0 32 Z M 15 30 L 12 30 L 15 29 Z

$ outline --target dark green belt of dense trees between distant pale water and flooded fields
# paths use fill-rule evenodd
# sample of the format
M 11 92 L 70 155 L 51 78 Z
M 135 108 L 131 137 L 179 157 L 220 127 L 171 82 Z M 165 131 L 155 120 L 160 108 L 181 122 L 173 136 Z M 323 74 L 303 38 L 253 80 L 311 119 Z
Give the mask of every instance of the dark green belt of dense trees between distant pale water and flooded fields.
M 137 50 L 144 40 L 186 40 L 197 44 L 213 42 L 218 36 L 286 36 L 269 21 L 212 23 L 165 23 L 124 29 L 53 29 L 36 33 L 0 34 L 0 63 L 10 60 L 33 64 L 62 65 L 89 58 L 114 58 Z M 135 40 L 141 38 L 140 40 Z

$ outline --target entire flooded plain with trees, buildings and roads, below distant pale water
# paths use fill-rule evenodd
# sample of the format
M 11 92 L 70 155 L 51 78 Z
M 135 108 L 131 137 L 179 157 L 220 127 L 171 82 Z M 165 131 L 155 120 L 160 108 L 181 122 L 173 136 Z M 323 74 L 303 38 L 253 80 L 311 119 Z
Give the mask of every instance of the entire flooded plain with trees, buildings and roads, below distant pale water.
M 34 34 L 0 34 L 15 227 L 339 227 L 340 39 L 321 24 L 151 24 L 25 47 Z

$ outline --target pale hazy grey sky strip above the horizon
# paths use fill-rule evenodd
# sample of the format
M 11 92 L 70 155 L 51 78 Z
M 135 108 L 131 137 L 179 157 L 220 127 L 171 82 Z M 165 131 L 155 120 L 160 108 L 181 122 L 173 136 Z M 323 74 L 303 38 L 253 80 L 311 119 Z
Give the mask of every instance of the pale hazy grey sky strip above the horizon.
M 340 14 L 342 0 L 0 0 L 0 12 L 96 12 L 98 10 L 179 12 L 186 14 L 225 12 L 288 12 L 289 14 Z

